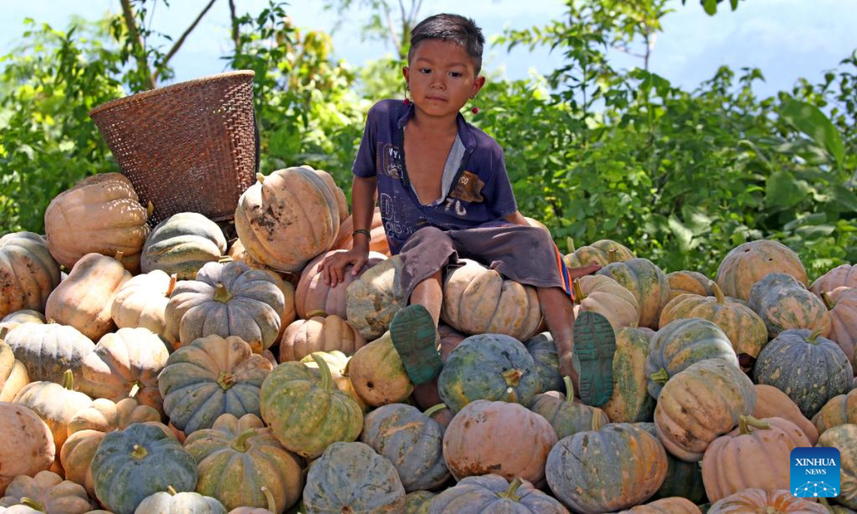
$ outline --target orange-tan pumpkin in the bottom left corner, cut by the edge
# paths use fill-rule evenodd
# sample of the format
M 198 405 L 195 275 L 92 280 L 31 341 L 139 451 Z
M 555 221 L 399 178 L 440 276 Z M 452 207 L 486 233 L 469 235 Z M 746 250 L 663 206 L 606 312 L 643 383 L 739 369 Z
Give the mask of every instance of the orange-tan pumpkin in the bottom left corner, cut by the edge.
M 27 499 L 29 501 L 27 501 Z M 0 507 L 27 505 L 51 514 L 83 514 L 92 509 L 86 490 L 51 471 L 20 475 L 6 488 Z

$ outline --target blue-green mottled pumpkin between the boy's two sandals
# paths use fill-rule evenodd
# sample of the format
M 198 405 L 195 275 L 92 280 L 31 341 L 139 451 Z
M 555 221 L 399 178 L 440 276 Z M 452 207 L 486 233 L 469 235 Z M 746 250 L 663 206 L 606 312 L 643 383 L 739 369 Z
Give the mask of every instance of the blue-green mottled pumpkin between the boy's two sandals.
M 475 400 L 509 398 L 524 407 L 539 390 L 536 363 L 518 339 L 502 334 L 482 334 L 464 339 L 446 357 L 438 377 L 440 399 L 454 412 Z

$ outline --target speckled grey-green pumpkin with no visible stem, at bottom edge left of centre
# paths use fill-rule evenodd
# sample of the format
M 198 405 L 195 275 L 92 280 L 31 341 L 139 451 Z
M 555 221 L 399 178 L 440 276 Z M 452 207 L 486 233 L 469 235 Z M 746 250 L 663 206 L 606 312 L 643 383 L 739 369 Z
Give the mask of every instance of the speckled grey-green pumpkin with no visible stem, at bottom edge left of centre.
M 333 443 L 309 468 L 307 512 L 401 512 L 405 487 L 393 464 L 363 443 Z

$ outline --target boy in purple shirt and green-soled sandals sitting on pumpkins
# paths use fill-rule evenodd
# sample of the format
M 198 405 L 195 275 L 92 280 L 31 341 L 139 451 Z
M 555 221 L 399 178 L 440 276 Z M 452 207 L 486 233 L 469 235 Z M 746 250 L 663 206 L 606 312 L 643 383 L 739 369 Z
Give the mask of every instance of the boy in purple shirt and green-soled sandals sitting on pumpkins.
M 601 405 L 613 391 L 613 330 L 594 313 L 583 313 L 575 326 L 571 297 L 571 280 L 600 266 L 566 270 L 550 235 L 518 212 L 500 146 L 458 112 L 485 84 L 484 41 L 474 21 L 459 15 L 431 16 L 414 27 L 402 69 L 411 99 L 381 100 L 369 110 L 353 166 L 354 246 L 328 257 L 323 277 L 335 286 L 345 266 L 357 274 L 366 264 L 377 192 L 411 303 L 390 326 L 411 380 L 421 384 L 440 372 L 434 343 L 441 281 L 462 257 L 537 288 L 560 372 L 572 377 L 585 403 Z

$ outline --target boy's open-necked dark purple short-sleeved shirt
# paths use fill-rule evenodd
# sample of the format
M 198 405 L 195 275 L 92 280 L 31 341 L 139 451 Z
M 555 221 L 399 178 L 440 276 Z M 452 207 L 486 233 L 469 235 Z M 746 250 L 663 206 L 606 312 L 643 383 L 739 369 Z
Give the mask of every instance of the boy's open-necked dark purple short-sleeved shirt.
M 403 144 L 405 124 L 413 112 L 414 105 L 404 105 L 401 100 L 373 105 L 352 167 L 356 176 L 378 179 L 381 219 L 391 254 L 399 254 L 408 237 L 423 227 L 461 230 L 506 224 L 503 218 L 518 206 L 503 150 L 488 134 L 465 122 L 460 113 L 458 140 L 464 154 L 452 183 L 440 200 L 431 205 L 420 203 L 408 180 Z

